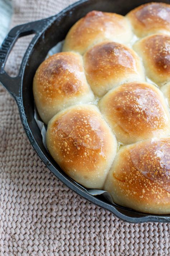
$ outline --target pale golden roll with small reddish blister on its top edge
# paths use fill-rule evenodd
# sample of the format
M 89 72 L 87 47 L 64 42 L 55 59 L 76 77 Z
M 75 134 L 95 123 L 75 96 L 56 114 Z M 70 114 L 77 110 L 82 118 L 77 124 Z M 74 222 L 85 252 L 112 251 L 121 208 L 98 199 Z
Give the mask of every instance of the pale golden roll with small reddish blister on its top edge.
M 71 27 L 63 51 L 83 54 L 89 47 L 104 40 L 127 43 L 132 37 L 129 21 L 122 15 L 92 11 Z

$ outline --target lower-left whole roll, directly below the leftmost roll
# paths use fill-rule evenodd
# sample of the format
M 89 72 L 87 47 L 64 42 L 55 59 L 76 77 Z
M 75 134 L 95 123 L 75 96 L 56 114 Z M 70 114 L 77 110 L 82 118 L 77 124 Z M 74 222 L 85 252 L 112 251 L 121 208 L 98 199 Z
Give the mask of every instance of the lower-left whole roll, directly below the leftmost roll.
M 56 114 L 48 123 L 46 142 L 67 175 L 85 187 L 103 187 L 117 141 L 97 106 L 75 105 Z

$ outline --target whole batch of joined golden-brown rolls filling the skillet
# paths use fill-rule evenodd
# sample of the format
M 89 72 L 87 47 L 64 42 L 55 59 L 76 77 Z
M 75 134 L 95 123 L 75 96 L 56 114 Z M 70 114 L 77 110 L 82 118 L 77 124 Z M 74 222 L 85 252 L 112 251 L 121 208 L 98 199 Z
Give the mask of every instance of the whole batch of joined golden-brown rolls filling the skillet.
M 33 81 L 52 158 L 121 206 L 170 214 L 170 5 L 93 10 L 62 50 Z

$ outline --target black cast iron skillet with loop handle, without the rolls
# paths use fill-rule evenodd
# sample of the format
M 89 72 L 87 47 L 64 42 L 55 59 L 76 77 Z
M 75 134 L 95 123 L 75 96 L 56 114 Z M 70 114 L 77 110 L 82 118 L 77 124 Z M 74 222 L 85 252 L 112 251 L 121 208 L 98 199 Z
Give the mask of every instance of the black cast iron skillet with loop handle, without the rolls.
M 170 3 L 170 0 L 160 1 Z M 52 173 L 77 194 L 100 207 L 108 209 L 120 219 L 133 223 L 147 221 L 170 222 L 170 215 L 144 214 L 121 206 L 112 205 L 102 197 L 94 197 L 88 194 L 83 188 L 76 185 L 76 183 L 72 181 L 52 159 L 42 143 L 40 130 L 34 120 L 32 82 L 38 66 L 46 57 L 49 49 L 55 46 L 59 41 L 63 40 L 69 31 L 69 28 L 86 13 L 91 10 L 100 10 L 125 15 L 138 5 L 148 2 L 149 1 L 147 0 L 81 0 L 70 5 L 55 16 L 14 27 L 6 36 L 0 48 L 0 82 L 11 96 L 14 97 L 18 105 L 25 133 L 44 164 L 46 164 Z M 19 37 L 30 34 L 35 34 L 35 36 L 23 57 L 19 75 L 11 78 L 4 71 L 6 59 L 16 40 Z

